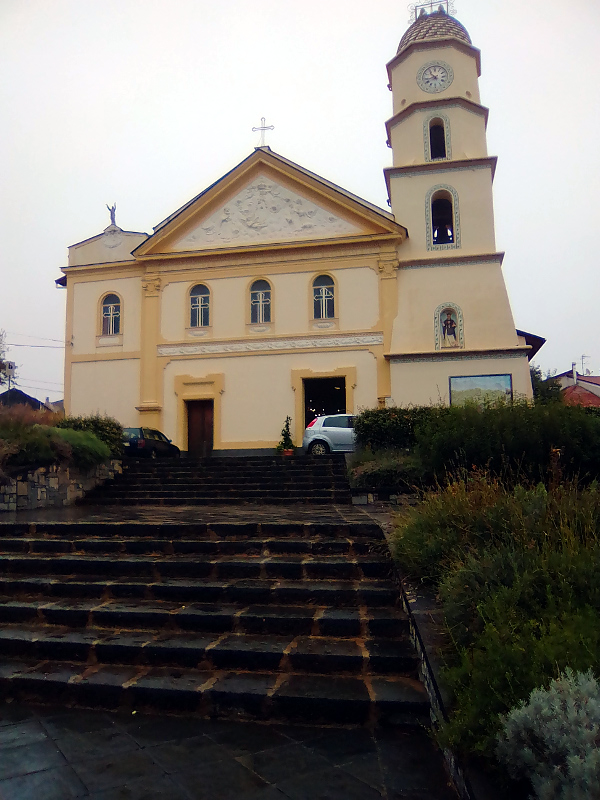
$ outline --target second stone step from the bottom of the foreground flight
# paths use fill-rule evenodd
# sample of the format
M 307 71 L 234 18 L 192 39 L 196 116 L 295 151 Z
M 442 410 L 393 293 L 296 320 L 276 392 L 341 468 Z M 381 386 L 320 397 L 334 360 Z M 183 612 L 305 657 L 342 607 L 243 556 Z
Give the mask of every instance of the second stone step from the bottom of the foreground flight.
M 418 659 L 406 639 L 347 639 L 249 633 L 128 632 L 56 626 L 0 628 L 0 659 L 79 661 L 285 673 L 310 672 L 417 677 Z

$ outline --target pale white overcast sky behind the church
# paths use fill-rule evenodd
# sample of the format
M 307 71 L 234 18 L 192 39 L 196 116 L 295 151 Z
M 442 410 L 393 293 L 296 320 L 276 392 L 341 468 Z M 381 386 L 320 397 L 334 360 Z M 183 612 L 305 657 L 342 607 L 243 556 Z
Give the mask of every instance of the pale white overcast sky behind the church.
M 515 324 L 546 337 L 544 370 L 600 373 L 600 3 L 455 5 L 482 51 Z M 44 345 L 9 348 L 19 385 L 63 395 L 67 247 L 113 202 L 150 232 L 250 154 L 261 116 L 277 153 L 387 208 L 385 65 L 408 24 L 393 0 L 0 0 L 0 329 Z

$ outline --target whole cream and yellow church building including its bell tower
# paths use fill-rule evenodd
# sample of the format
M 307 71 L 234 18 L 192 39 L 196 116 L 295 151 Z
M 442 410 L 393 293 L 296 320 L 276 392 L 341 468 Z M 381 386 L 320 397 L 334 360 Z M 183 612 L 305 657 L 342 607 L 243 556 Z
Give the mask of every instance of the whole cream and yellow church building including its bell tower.
M 393 213 L 259 147 L 153 234 L 69 248 L 65 405 L 195 453 L 320 413 L 531 397 L 494 238 L 479 51 L 423 13 L 388 64 Z

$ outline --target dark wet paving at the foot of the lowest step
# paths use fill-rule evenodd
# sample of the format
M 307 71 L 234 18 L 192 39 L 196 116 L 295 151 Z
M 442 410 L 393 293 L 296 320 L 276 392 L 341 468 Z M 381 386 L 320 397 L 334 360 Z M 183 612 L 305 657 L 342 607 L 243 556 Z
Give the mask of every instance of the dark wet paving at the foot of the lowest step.
M 2 800 L 454 800 L 422 729 L 0 705 Z

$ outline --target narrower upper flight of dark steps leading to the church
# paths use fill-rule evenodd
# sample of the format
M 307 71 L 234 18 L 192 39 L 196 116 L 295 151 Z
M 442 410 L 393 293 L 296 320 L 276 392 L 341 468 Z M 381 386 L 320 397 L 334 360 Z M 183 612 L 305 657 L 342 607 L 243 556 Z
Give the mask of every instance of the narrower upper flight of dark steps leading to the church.
M 125 460 L 123 474 L 88 494 L 103 505 L 351 503 L 343 455 Z

